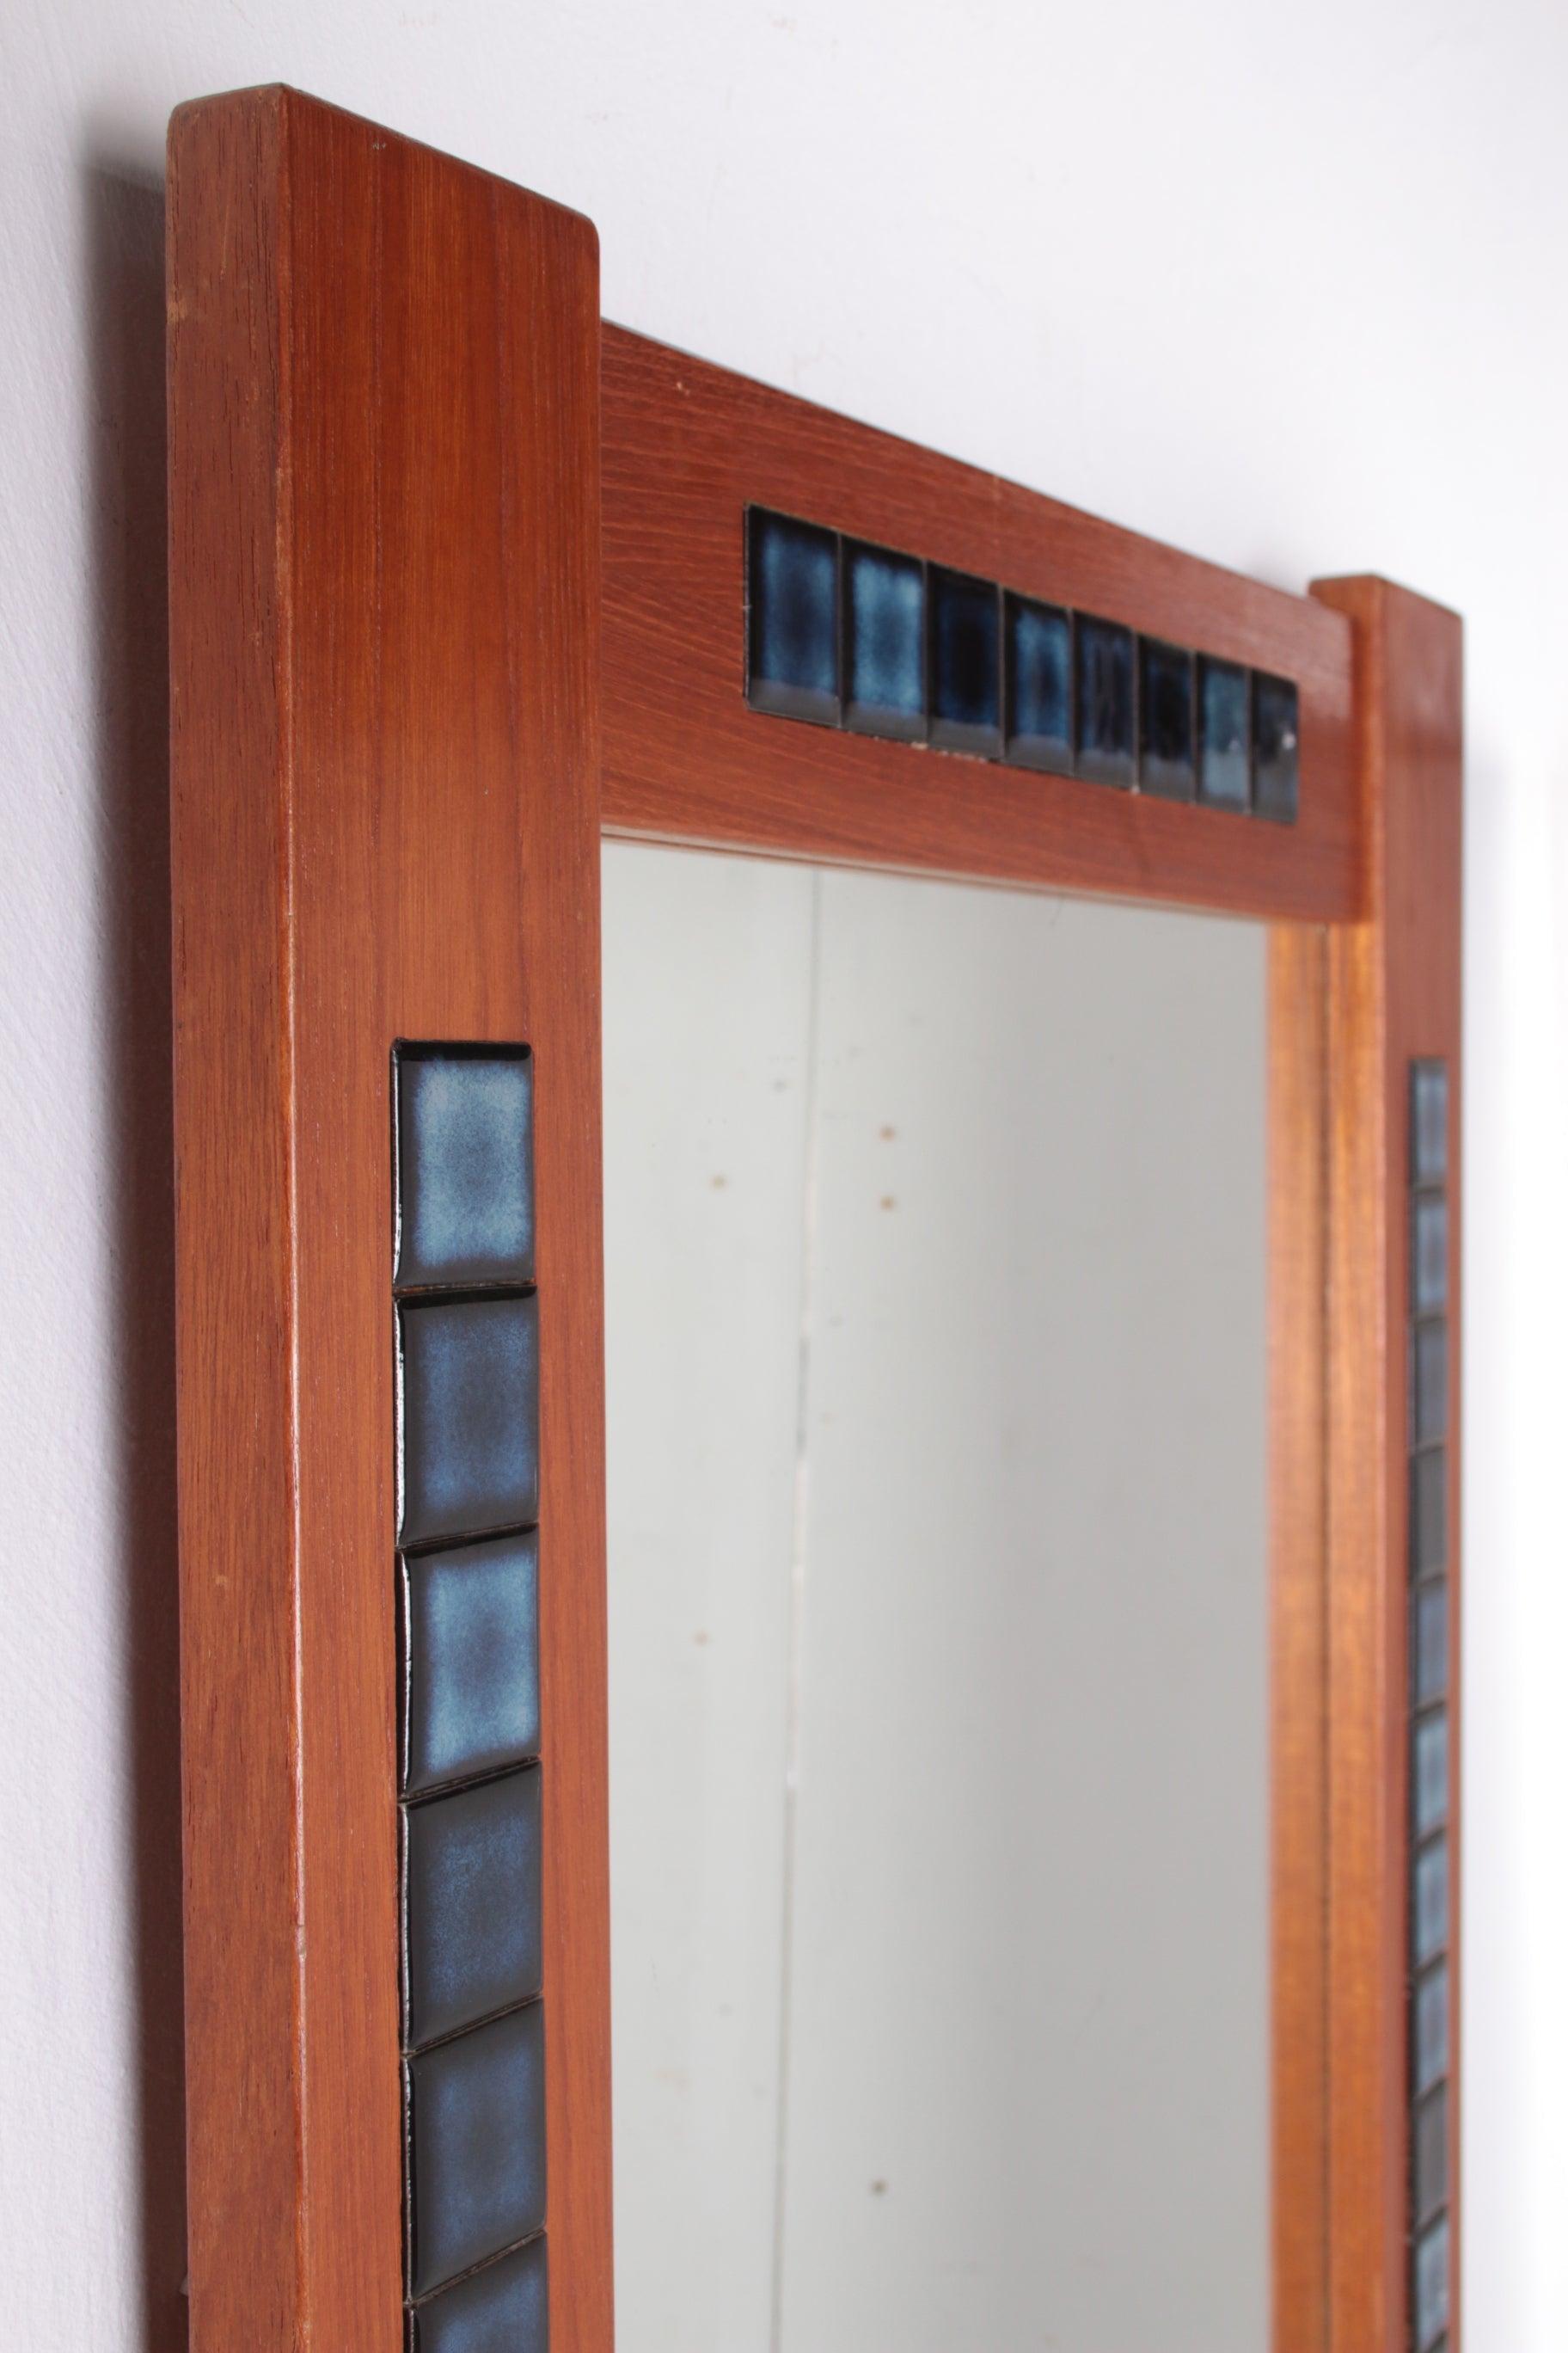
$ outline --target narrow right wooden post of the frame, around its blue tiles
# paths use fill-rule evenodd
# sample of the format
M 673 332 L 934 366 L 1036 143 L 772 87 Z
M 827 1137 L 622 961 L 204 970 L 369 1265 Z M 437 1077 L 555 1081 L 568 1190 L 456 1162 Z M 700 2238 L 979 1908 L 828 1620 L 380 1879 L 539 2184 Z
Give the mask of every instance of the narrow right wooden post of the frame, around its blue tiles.
M 1314 591 L 1356 631 L 1368 911 L 1328 934 L 1328 2261 L 1335 2353 L 1399 2353 L 1408 2329 L 1408 1068 L 1448 1061 L 1450 1708 L 1460 1624 L 1460 904 L 1462 631 L 1378 579 Z M 1458 1708 L 1450 1918 L 1460 1904 Z M 1450 2017 L 1460 1955 L 1450 1946 Z M 1450 2165 L 1460 2139 L 1458 2049 Z M 1458 2238 L 1458 2174 L 1450 2181 Z M 1458 2287 L 1458 2266 L 1455 2266 Z M 1458 2344 L 1458 2294 L 1450 2325 Z

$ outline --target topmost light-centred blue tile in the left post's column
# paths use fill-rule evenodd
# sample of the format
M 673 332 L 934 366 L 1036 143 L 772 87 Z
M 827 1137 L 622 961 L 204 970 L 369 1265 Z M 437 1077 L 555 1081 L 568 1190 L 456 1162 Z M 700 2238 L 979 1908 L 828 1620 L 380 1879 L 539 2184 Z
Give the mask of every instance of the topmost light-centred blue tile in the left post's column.
M 397 1054 L 397 1282 L 534 1280 L 534 1056 Z

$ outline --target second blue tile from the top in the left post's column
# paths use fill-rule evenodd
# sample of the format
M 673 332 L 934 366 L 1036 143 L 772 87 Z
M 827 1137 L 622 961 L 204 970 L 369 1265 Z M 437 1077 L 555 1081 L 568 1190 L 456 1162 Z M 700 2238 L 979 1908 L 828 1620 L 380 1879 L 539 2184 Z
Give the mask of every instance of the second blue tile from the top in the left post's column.
M 400 1541 L 538 1518 L 538 1301 L 418 1301 L 400 1329 Z

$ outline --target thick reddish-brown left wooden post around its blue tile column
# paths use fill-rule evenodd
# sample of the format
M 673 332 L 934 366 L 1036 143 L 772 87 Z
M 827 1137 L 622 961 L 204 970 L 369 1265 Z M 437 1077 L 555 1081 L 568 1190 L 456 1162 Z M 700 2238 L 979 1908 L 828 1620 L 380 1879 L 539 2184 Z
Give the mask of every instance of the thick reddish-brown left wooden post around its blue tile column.
M 294 92 L 169 134 L 197 2353 L 402 2344 L 390 1047 L 536 1052 L 557 2353 L 609 2353 L 597 249 Z

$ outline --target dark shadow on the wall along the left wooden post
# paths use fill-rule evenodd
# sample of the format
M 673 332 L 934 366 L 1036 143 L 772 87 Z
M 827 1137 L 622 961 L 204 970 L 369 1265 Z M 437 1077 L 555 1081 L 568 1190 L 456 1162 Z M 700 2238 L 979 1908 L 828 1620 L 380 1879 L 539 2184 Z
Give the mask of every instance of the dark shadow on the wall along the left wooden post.
M 99 878 L 118 1308 L 118 1449 L 134 1871 L 141 2353 L 186 2344 L 174 1089 L 169 1028 L 169 567 L 162 188 L 82 176 L 99 687 Z

